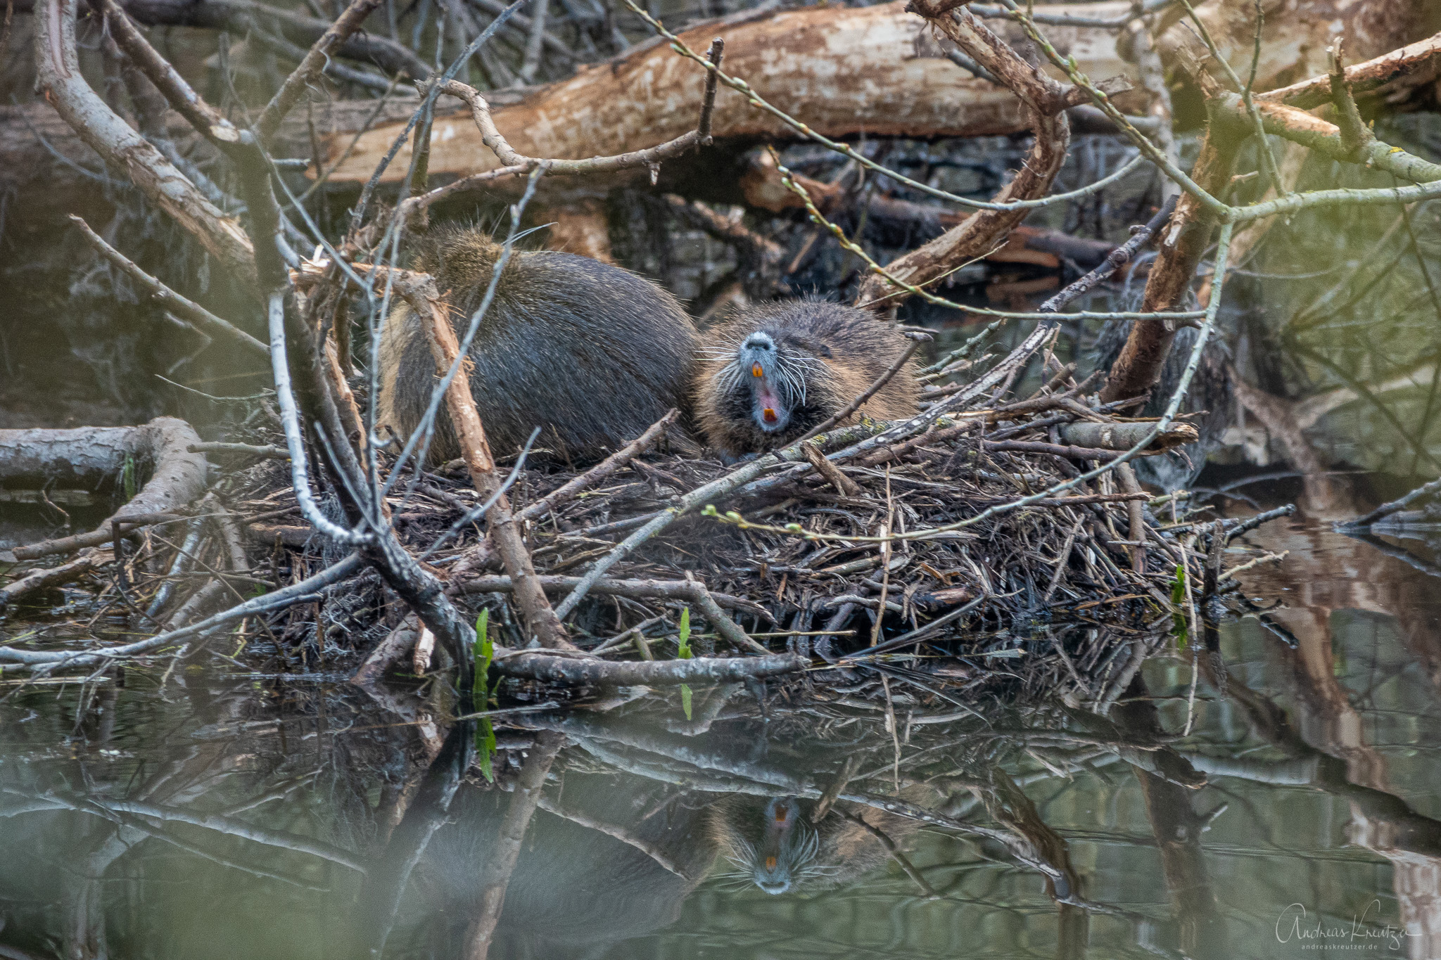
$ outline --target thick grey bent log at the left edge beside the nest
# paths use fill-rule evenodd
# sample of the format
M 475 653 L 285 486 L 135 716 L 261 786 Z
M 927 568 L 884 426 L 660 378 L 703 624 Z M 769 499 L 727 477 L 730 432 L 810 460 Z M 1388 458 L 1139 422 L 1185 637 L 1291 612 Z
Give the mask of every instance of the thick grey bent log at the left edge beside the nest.
M 16 560 L 97 547 L 115 535 L 115 524 L 146 514 L 176 511 L 205 495 L 206 462 L 186 449 L 200 438 L 184 420 L 156 417 L 143 426 L 79 427 L 72 430 L 0 430 L 0 482 L 94 489 L 115 481 L 127 462 L 134 471 L 148 465 L 150 481 L 95 530 L 16 547 Z

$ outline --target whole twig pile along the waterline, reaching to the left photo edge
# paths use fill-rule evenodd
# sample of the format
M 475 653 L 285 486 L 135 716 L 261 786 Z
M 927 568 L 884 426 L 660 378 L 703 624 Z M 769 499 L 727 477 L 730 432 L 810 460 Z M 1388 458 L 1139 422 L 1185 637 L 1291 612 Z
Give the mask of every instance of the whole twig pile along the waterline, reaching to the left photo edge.
M 1272 514 L 1190 517 L 1183 494 L 1141 491 L 1130 458 L 1195 430 L 1120 417 L 1050 358 L 1050 335 L 1038 327 L 989 366 L 967 357 L 977 337 L 922 371 L 912 420 L 862 417 L 741 465 L 654 449 L 676 413 L 585 471 L 540 450 L 503 465 L 510 515 L 569 638 L 535 658 L 543 669 L 523 662 L 525 610 L 467 465 L 403 469 L 385 502 L 398 544 L 448 602 L 486 612 L 513 676 L 584 691 L 810 664 L 817 682 L 853 685 L 865 671 L 928 702 L 1063 691 L 1105 704 L 1169 638 L 1206 633 L 1206 602 L 1235 589 L 1225 544 Z M 1007 396 L 1033 357 L 1053 376 Z M 95 590 L 63 607 L 86 619 L 73 655 L 0 652 L 39 672 L 203 649 L 251 668 L 354 672 L 365 658 L 362 679 L 450 676 L 452 651 L 304 522 L 287 449 L 246 439 L 192 445 L 222 479 L 189 510 L 141 518 L 138 550 L 117 537 L 69 564 Z M 102 622 L 154 636 L 101 648 L 89 630 Z M 692 649 L 703 659 L 673 676 L 654 662 L 680 668 Z M 706 661 L 715 675 L 696 672 Z

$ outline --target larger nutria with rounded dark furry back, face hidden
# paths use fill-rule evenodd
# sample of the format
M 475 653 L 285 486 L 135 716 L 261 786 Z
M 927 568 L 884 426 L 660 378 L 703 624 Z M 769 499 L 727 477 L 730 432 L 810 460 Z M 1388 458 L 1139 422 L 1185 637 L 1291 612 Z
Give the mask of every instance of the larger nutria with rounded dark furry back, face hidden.
M 457 337 L 500 252 L 470 229 L 442 227 L 422 242 L 415 269 L 448 294 Z M 516 250 L 470 348 L 470 387 L 497 456 L 519 450 L 539 426 L 537 448 L 592 459 L 684 404 L 693 353 L 690 318 L 656 284 L 588 256 Z M 379 422 L 403 440 L 435 384 L 429 344 L 405 305 L 380 337 L 380 384 Z M 442 406 L 431 456 L 457 455 Z

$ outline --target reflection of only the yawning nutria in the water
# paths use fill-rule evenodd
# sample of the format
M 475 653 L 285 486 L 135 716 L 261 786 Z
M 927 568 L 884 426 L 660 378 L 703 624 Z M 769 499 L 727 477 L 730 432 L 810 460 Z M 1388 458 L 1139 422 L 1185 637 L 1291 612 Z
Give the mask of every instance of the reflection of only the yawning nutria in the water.
M 710 836 L 732 866 L 720 877 L 784 894 L 839 887 L 885 864 L 886 849 L 862 823 L 834 807 L 813 823 L 814 809 L 814 800 L 745 794 L 713 805 Z M 885 810 L 859 807 L 855 815 L 892 839 L 915 830 L 912 820 Z

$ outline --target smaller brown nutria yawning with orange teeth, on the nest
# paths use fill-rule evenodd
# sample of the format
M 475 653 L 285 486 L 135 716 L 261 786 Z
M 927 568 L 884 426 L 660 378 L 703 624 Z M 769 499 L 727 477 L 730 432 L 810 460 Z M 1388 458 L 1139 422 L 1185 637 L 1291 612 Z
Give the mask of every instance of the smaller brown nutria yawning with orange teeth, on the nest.
M 855 307 L 816 299 L 741 309 L 708 331 L 696 370 L 696 419 L 729 456 L 795 442 L 843 410 L 905 351 L 893 328 Z M 878 420 L 916 410 L 908 363 L 862 407 Z M 843 423 L 855 420 L 852 415 Z

